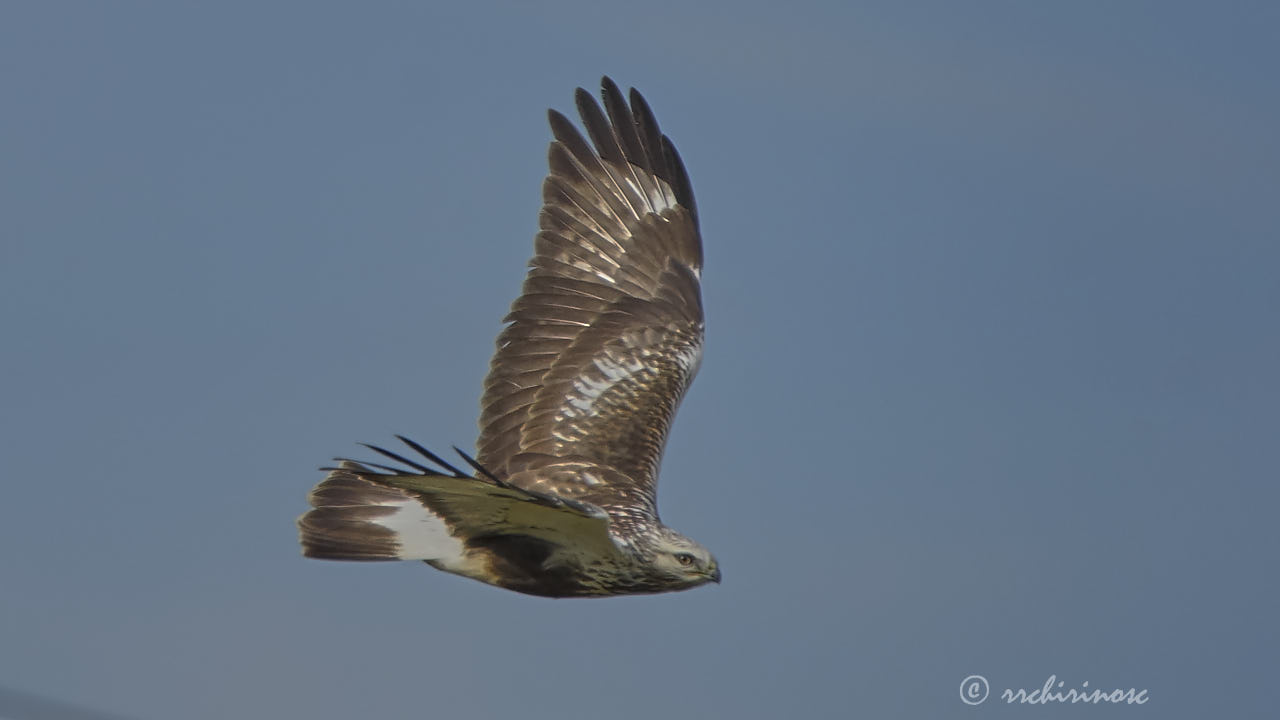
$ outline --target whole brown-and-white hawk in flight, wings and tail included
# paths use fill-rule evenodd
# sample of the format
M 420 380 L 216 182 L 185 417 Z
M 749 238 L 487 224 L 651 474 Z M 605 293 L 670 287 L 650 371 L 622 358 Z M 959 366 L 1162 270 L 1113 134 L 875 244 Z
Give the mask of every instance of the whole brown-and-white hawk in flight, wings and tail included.
M 504 318 L 463 473 L 421 445 L 337 459 L 298 520 L 302 552 L 424 560 L 545 597 L 719 582 L 658 519 L 667 430 L 703 352 L 698 208 L 653 111 L 609 78 L 556 110 L 534 259 Z M 403 455 L 402 455 L 403 454 Z

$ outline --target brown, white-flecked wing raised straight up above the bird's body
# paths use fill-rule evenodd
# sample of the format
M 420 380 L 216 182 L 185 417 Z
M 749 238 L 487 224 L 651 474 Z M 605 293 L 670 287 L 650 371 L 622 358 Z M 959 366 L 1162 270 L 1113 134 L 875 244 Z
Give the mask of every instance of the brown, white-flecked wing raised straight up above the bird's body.
M 540 232 L 498 336 L 477 460 L 517 486 L 654 507 L 667 430 L 703 347 L 698 210 L 635 90 L 577 90 L 594 150 L 559 113 Z

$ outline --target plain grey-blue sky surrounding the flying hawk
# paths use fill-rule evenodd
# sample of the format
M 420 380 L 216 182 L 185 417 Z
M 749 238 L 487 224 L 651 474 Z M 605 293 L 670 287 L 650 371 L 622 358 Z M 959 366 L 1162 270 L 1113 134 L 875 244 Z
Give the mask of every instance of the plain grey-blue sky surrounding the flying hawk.
M 4 4 L 0 714 L 1272 715 L 1277 36 L 1268 3 Z M 724 583 L 303 560 L 332 456 L 472 446 L 545 109 L 604 73 L 701 210 L 660 505 Z M 996 697 L 1051 674 L 1151 700 Z

